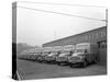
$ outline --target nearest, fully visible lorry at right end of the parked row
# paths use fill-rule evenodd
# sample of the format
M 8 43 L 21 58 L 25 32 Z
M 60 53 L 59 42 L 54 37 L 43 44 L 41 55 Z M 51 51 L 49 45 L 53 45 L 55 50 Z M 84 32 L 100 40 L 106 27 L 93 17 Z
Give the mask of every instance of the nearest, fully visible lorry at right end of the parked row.
M 75 52 L 68 58 L 70 67 L 80 65 L 86 67 L 89 63 L 97 62 L 98 46 L 94 43 L 76 44 Z

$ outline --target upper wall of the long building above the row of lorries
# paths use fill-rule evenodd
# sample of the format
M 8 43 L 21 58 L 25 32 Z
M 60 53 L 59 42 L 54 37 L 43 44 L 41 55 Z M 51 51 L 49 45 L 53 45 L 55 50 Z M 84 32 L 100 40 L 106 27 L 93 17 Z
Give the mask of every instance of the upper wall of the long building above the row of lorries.
M 74 36 L 65 37 L 62 39 L 57 39 L 54 42 L 50 42 L 50 43 L 43 44 L 43 47 L 75 45 L 75 44 L 85 43 L 85 42 L 96 43 L 100 40 L 107 40 L 107 27 L 106 26 L 97 28 L 97 30 L 92 30 L 89 32 L 85 32 L 81 34 L 77 34 Z

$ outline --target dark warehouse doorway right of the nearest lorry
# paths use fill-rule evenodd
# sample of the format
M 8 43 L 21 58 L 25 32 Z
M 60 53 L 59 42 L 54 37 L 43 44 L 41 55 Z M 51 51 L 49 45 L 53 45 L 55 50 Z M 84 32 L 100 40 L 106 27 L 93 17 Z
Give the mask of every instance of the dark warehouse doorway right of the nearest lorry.
M 98 55 L 98 61 L 100 65 L 106 66 L 107 65 L 107 42 L 98 42 L 98 48 L 99 48 L 99 55 Z

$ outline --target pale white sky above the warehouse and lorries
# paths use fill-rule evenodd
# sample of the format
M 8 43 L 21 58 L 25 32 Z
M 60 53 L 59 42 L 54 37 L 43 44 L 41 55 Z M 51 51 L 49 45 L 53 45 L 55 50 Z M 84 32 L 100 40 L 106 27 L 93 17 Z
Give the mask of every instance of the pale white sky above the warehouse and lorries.
M 105 8 L 18 3 L 18 7 L 106 20 Z M 106 22 L 18 8 L 16 42 L 33 46 L 105 26 Z

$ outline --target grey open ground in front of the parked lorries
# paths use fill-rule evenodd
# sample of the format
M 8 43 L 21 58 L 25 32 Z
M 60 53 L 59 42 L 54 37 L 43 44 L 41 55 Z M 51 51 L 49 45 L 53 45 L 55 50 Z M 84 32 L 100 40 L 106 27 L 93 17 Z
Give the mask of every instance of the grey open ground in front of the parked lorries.
M 100 65 L 91 65 L 86 68 L 70 68 L 69 66 L 40 63 L 20 59 L 16 62 L 18 72 L 22 80 L 107 74 L 106 66 Z

